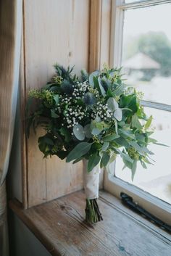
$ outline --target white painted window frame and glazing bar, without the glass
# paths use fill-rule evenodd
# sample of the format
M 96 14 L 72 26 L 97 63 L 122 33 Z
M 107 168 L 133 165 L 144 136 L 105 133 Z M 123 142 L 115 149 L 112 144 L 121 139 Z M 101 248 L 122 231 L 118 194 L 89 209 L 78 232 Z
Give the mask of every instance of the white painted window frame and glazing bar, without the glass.
M 110 44 L 110 66 L 120 67 L 122 60 L 122 31 L 124 21 L 124 10 L 147 7 L 155 4 L 169 3 L 170 0 L 142 0 L 134 1 L 131 4 L 125 4 L 125 0 L 112 0 L 112 22 L 111 22 L 111 44 Z M 143 106 L 153 107 L 159 110 L 171 111 L 171 106 L 159 104 L 157 102 L 141 102 Z M 133 197 L 142 207 L 162 219 L 165 223 L 171 225 L 171 205 L 161 199 L 154 197 L 142 189 L 131 185 L 120 178 L 114 176 L 115 162 L 110 165 L 110 172 L 105 172 L 104 189 L 120 197 L 123 191 Z

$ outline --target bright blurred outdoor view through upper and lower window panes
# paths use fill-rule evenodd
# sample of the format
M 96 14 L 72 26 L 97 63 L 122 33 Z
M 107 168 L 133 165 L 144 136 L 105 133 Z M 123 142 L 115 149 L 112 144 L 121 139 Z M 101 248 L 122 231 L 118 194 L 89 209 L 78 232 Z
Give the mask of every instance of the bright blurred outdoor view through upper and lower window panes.
M 127 1 L 130 2 L 130 1 Z M 143 92 L 143 99 L 171 105 L 171 4 L 125 10 L 122 66 L 127 84 Z M 130 170 L 116 162 L 118 178 L 171 203 L 171 112 L 145 107 L 153 115 L 154 134 L 165 146 L 151 146 L 154 165 L 138 165 L 134 181 Z

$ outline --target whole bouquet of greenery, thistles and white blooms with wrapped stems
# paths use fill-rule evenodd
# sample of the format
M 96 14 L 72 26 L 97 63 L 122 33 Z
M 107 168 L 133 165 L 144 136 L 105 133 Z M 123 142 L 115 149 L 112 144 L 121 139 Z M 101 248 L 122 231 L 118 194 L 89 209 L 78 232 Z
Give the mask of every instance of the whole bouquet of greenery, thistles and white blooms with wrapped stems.
M 146 168 L 153 154 L 147 146 L 157 144 L 150 137 L 152 117 L 143 111 L 141 93 L 125 85 L 121 69 L 105 65 L 91 74 L 81 70 L 78 77 L 72 75 L 73 67 L 54 67 L 51 81 L 29 92 L 27 133 L 30 125 L 43 126 L 38 146 L 44 157 L 57 155 L 73 164 L 83 160 L 86 220 L 96 223 L 102 220 L 97 205 L 100 169 L 118 154 L 132 179 L 138 161 Z

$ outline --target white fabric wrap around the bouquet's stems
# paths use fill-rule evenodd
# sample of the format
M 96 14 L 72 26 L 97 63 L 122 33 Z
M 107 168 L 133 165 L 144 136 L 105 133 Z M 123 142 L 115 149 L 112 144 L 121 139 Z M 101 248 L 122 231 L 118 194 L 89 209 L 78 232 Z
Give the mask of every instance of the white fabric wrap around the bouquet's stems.
M 96 165 L 90 173 L 87 170 L 88 160 L 83 159 L 83 186 L 86 199 L 96 199 L 99 197 L 99 174 L 100 165 Z

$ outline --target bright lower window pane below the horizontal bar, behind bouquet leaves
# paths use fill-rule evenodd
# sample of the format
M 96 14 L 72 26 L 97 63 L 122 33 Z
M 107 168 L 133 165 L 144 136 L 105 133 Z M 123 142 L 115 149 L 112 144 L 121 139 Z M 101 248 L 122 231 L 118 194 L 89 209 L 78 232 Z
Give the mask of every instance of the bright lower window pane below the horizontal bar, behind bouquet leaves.
M 153 127 L 155 131 L 151 138 L 157 139 L 160 143 L 167 144 L 170 147 L 155 144 L 149 146 L 149 149 L 154 152 L 151 158 L 156 162 L 154 162 L 154 165 L 147 165 L 147 169 L 143 169 L 141 163 L 138 164 L 134 181 L 131 181 L 130 169 L 122 170 L 123 163 L 118 157 L 115 176 L 171 203 L 171 112 L 149 107 L 144 110 L 147 115 L 153 115 L 154 117 Z

